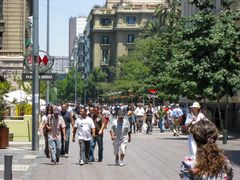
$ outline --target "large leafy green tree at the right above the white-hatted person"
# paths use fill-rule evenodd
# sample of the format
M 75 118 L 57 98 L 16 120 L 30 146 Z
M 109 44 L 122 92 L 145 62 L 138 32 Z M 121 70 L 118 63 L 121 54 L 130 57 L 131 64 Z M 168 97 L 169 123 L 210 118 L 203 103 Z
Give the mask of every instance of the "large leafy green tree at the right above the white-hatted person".
M 221 128 L 224 129 L 219 99 L 233 95 L 240 84 L 239 12 L 225 7 L 224 11 L 214 14 L 212 2 L 190 2 L 200 12 L 190 17 L 179 33 L 174 63 L 169 68 L 174 70 L 174 76 L 181 76 L 183 80 L 181 94 L 218 101 Z

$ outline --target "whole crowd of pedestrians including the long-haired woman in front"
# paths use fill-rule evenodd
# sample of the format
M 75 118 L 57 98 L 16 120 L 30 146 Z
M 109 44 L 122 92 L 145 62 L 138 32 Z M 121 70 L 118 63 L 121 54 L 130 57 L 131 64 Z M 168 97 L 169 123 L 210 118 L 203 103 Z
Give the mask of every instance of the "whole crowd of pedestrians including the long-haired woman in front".
M 113 141 L 115 164 L 124 166 L 131 134 L 151 135 L 153 126 L 158 126 L 161 133 L 168 129 L 172 131 L 173 136 L 179 136 L 180 131 L 188 133 L 189 155 L 182 161 L 180 171 L 182 179 L 233 177 L 229 160 L 215 143 L 217 128 L 202 113 L 198 102 L 185 109 L 174 103 L 157 107 L 138 103 L 136 106 L 134 104 L 111 106 L 95 104 L 87 107 L 77 105 L 74 110 L 65 103 L 61 106 L 47 106 L 42 112 L 40 128 L 45 138 L 44 152 L 53 164 L 59 162 L 61 155 L 68 158 L 71 129 L 71 140 L 79 144 L 80 165 L 96 159 L 98 162 L 103 161 L 103 135 L 105 131 L 109 131 Z M 111 125 L 107 126 L 112 119 Z M 97 158 L 94 157 L 96 145 Z M 217 154 L 214 157 L 216 159 L 212 159 L 209 153 Z M 209 165 L 207 170 L 204 163 L 210 164 L 213 168 Z

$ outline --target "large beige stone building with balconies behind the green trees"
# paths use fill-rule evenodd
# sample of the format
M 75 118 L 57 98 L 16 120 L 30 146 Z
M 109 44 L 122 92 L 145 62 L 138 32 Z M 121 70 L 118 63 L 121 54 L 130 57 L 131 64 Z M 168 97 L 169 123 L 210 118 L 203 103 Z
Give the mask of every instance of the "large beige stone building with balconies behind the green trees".
M 107 71 L 109 66 L 115 66 L 118 57 L 132 51 L 134 40 L 163 3 L 164 0 L 107 0 L 105 6 L 92 9 L 88 17 L 90 68 Z

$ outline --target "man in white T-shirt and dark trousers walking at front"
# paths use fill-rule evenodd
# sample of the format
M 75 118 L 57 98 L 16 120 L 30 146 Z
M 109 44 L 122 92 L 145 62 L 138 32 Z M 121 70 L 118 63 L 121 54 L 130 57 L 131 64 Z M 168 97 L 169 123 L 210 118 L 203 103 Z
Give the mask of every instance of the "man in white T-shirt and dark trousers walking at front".
M 80 147 L 80 165 L 84 162 L 87 163 L 89 159 L 90 139 L 95 136 L 95 125 L 92 118 L 87 116 L 87 109 L 80 110 L 80 116 L 75 121 L 73 129 L 72 141 L 75 142 L 75 134 L 78 134 L 79 147 Z M 92 135 L 91 135 L 92 132 Z

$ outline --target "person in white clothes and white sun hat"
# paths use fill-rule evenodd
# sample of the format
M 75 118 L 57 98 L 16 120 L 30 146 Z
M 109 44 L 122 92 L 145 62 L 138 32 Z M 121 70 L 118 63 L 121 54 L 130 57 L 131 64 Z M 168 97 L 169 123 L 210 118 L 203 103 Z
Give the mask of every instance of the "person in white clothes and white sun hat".
M 201 113 L 201 106 L 198 102 L 194 102 L 191 108 L 191 113 L 188 114 L 185 125 L 190 132 L 191 125 L 197 123 L 200 120 L 206 120 L 206 117 L 203 113 Z M 191 155 L 196 155 L 197 152 L 197 145 L 195 140 L 193 139 L 193 135 L 190 133 L 188 135 L 188 147 L 189 147 L 189 153 Z

